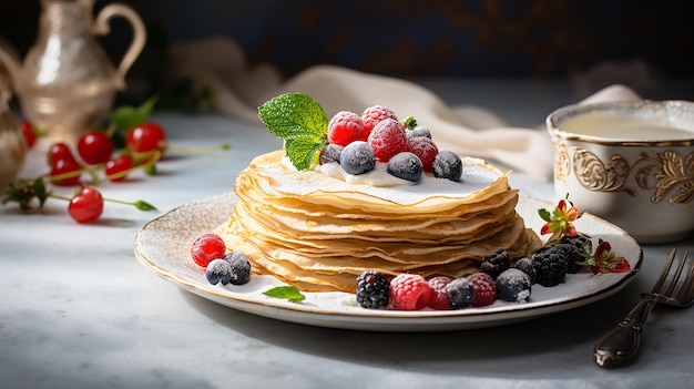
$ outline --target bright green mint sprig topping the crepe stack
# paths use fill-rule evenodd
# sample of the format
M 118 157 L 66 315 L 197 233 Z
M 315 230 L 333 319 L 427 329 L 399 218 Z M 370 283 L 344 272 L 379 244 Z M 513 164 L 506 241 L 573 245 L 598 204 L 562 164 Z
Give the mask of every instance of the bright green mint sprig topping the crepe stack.
M 258 106 L 258 117 L 275 136 L 285 140 L 289 161 L 299 171 L 312 168 L 328 143 L 328 117 L 312 96 L 285 93 Z

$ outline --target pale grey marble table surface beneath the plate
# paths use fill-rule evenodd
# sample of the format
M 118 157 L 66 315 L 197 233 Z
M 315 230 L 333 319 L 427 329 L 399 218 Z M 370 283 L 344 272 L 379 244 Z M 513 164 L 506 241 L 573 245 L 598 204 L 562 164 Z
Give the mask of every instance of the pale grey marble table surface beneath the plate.
M 422 83 L 445 100 L 489 106 L 541 125 L 578 99 L 568 84 Z M 522 89 L 524 88 L 524 89 Z M 516 99 L 513 96 L 523 96 Z M 677 98 L 677 96 L 673 96 Z M 3 388 L 659 388 L 694 382 L 694 309 L 657 307 L 635 362 L 606 370 L 595 341 L 650 289 L 673 246 L 642 246 L 636 279 L 600 301 L 510 326 L 448 332 L 370 332 L 289 324 L 237 311 L 162 279 L 133 254 L 151 219 L 228 192 L 256 154 L 282 144 L 259 125 L 204 114 L 157 113 L 173 144 L 231 143 L 231 151 L 171 152 L 159 174 L 104 183 L 106 197 L 145 199 L 156 212 L 106 203 L 79 225 L 67 203 L 43 213 L 0 206 L 0 386 Z M 45 142 L 22 176 L 45 172 Z M 550 183 L 513 173 L 521 194 L 554 201 Z M 69 195 L 71 190 L 57 188 Z

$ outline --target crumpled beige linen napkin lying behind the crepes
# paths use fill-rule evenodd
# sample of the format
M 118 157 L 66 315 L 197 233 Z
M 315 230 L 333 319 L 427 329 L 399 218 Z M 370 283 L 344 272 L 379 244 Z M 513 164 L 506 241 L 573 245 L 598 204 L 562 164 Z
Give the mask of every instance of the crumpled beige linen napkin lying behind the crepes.
M 212 88 L 213 108 L 234 117 L 258 122 L 257 106 L 285 92 L 313 96 L 328 119 L 338 111 L 360 114 L 380 104 L 429 127 L 439 150 L 497 160 L 540 180 L 552 177 L 552 145 L 542 125 L 544 117 L 538 117 L 537 129 L 512 126 L 481 108 L 449 106 L 419 84 L 333 65 L 312 66 L 283 81 L 271 65 L 249 69 L 243 50 L 226 38 L 176 44 L 172 60 L 173 76 L 188 76 L 198 86 Z M 582 103 L 639 99 L 629 88 L 613 85 Z

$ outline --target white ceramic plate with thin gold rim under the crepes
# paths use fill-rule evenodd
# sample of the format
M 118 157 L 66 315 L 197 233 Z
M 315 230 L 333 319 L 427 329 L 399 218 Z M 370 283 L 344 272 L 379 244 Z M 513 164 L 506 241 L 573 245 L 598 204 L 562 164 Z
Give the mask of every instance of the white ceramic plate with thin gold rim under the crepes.
M 191 259 L 193 239 L 212 232 L 231 215 L 236 202 L 233 193 L 216 195 L 177 207 L 150 222 L 136 235 L 134 250 L 140 262 L 155 274 L 181 288 L 246 313 L 274 319 L 334 328 L 379 331 L 438 331 L 500 326 L 575 308 L 613 295 L 635 278 L 642 263 L 636 242 L 616 226 L 584 214 L 579 231 L 593 239 L 602 238 L 612 249 L 626 257 L 632 272 L 622 274 L 571 274 L 555 287 L 532 286 L 531 300 L 523 304 L 496 301 L 491 306 L 460 310 L 371 310 L 357 305 L 347 293 L 308 293 L 299 304 L 263 295 L 280 285 L 271 276 L 254 276 L 246 285 L 211 285 L 205 272 Z M 539 208 L 553 204 L 521 197 L 518 212 L 525 224 L 539 231 Z

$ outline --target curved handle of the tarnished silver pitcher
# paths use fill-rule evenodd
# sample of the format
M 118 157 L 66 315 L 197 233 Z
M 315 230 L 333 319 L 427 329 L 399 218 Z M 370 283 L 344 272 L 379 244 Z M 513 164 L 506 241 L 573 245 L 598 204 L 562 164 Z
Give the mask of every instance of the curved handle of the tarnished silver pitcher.
M 109 4 L 104 7 L 96 16 L 93 25 L 93 32 L 98 35 L 105 35 L 111 31 L 109 21 L 111 18 L 122 17 L 125 18 L 133 29 L 133 40 L 121 60 L 121 64 L 115 71 L 115 88 L 118 90 L 125 89 L 125 73 L 133 65 L 133 62 L 137 59 L 137 55 L 142 52 L 146 40 L 146 30 L 140 16 L 130 7 L 123 4 Z

